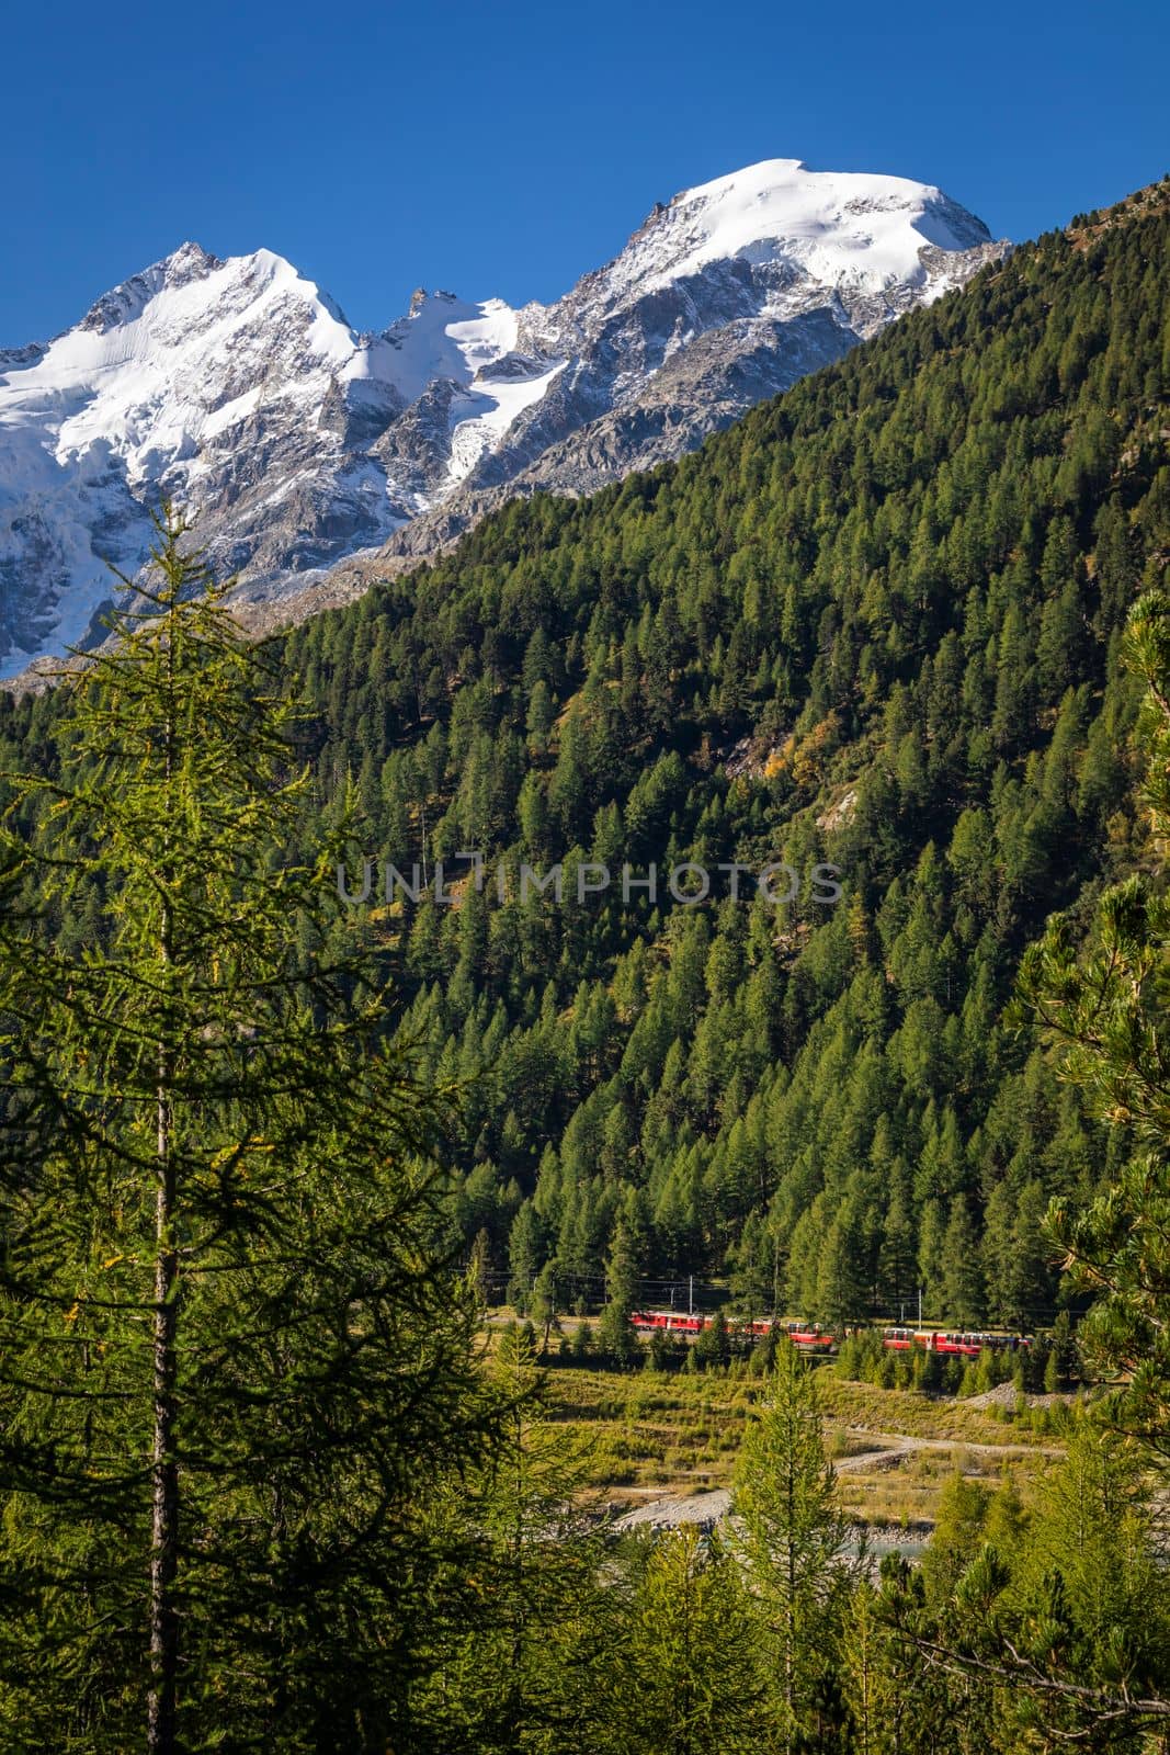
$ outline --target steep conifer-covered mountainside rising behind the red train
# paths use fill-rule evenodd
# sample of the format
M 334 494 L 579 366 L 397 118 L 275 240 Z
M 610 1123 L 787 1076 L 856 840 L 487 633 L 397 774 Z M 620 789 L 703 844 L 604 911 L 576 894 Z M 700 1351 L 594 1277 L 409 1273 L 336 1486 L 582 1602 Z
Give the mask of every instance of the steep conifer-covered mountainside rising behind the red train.
M 1170 558 L 1168 244 L 1163 186 L 286 639 L 319 806 L 351 774 L 372 853 L 567 867 L 563 907 L 512 876 L 361 914 L 428 1071 L 484 1069 L 460 1216 L 521 1300 L 544 1269 L 600 1299 L 621 1239 L 756 1311 L 1052 1320 L 1045 1202 L 1124 1143 L 1002 1009 L 1045 916 L 1144 856 L 1117 637 Z M 779 911 L 667 890 L 777 858 Z M 614 883 L 574 906 L 581 860 Z

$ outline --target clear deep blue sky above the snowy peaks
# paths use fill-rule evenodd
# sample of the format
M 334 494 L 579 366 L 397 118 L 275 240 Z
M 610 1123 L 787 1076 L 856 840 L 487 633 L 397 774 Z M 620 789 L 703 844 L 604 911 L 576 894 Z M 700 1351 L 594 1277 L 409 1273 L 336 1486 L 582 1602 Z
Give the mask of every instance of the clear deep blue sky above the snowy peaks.
M 360 328 L 414 286 L 553 298 L 654 200 L 760 158 L 940 184 L 1024 239 L 1170 168 L 1170 11 L 754 0 L 19 7 L 0 346 L 188 237 Z

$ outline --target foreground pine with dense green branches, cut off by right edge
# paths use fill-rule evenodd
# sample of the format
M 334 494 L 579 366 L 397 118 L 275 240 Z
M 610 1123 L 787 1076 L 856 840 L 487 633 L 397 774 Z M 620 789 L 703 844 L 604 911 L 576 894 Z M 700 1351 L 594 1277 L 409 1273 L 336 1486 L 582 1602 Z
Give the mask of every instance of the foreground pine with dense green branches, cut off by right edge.
M 1058 918 L 1021 971 L 1063 1076 L 1137 1148 L 1131 1157 L 1123 1150 L 1116 1181 L 1088 1206 L 1056 1200 L 1049 1211 L 1072 1283 L 1095 1295 L 1079 1341 L 1119 1386 L 1074 1427 L 1026 1539 L 1016 1520 L 998 1537 L 981 1529 L 984 1495 L 956 1481 L 921 1580 L 891 1578 L 886 1590 L 888 1623 L 905 1644 L 951 1688 L 984 1697 L 974 1746 L 995 1746 L 989 1727 L 998 1722 L 1012 1750 L 1165 1750 L 1170 1723 L 1170 1592 L 1149 1471 L 1152 1458 L 1165 1474 L 1170 1453 L 1165 595 L 1135 604 L 1126 646 L 1147 684 L 1140 734 L 1152 872 L 1102 897 L 1084 949 Z M 1067 1322 L 1054 1334 L 1045 1386 L 1056 1388 L 1067 1371 L 1065 1336 Z M 970 1515 L 960 1530 L 963 1499 Z

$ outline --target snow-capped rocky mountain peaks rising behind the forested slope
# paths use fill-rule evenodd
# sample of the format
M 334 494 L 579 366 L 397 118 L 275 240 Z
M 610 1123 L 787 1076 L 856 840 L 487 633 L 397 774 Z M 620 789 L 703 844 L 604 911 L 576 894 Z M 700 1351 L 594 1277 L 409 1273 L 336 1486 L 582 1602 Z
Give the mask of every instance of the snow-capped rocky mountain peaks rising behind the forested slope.
M 553 305 L 453 293 L 360 335 L 281 256 L 184 244 L 0 351 L 0 676 L 100 637 L 163 497 L 244 602 L 433 553 L 514 493 L 679 456 L 1003 254 L 938 190 L 768 160 L 658 204 Z

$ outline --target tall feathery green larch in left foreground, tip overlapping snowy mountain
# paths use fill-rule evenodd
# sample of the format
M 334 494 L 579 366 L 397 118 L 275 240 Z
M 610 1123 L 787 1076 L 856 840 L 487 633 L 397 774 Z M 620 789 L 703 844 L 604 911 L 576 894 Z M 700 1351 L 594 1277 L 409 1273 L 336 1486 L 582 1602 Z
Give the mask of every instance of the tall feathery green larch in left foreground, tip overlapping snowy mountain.
M 342 832 L 281 863 L 293 711 L 186 537 L 5 841 L 0 1725 L 384 1750 L 456 1578 L 428 1504 L 488 1425 L 474 1309 L 435 1102 L 323 953 Z

